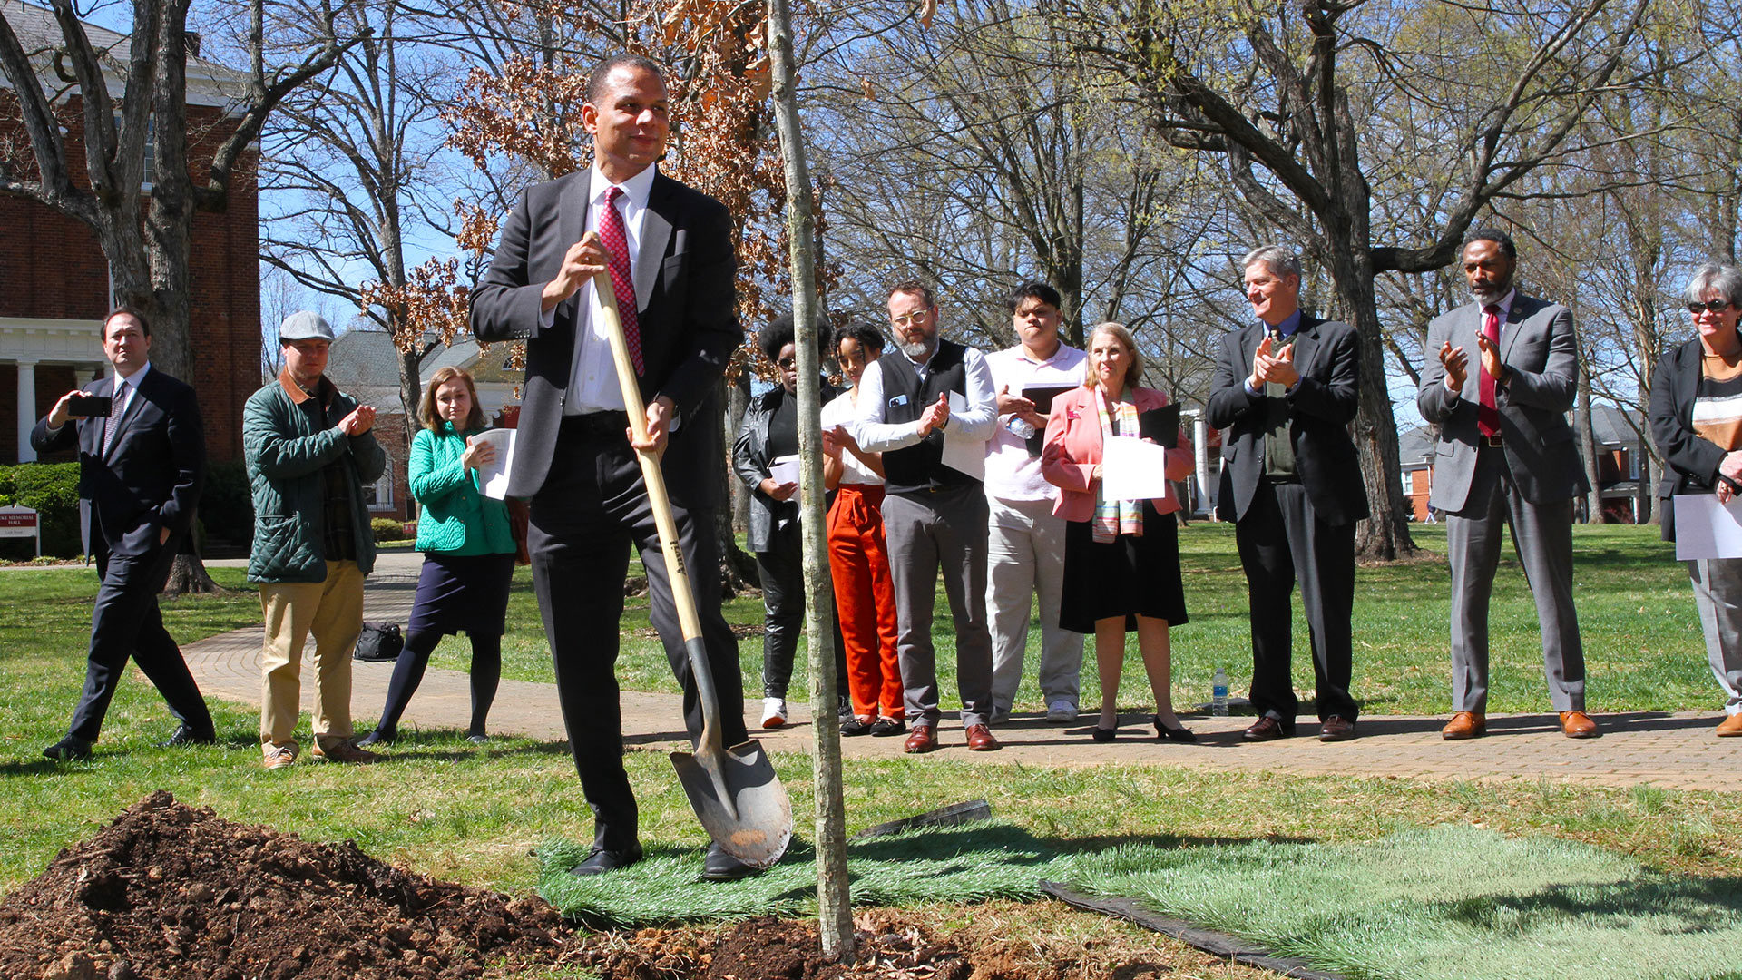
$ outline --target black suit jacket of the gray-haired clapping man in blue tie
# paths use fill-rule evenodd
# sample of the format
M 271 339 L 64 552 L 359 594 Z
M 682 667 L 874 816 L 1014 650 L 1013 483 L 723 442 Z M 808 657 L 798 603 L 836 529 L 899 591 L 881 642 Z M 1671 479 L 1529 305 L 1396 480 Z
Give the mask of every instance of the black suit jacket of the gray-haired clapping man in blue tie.
M 1216 354 L 1216 375 L 1205 415 L 1223 429 L 1221 488 L 1216 514 L 1240 520 L 1265 474 L 1265 399 L 1246 392 L 1252 356 L 1265 330 L 1259 324 L 1228 331 Z M 1367 516 L 1367 488 L 1348 424 L 1361 403 L 1361 361 L 1355 328 L 1301 314 L 1294 333 L 1294 370 L 1301 380 L 1286 396 L 1294 466 L 1313 513 L 1343 527 Z

